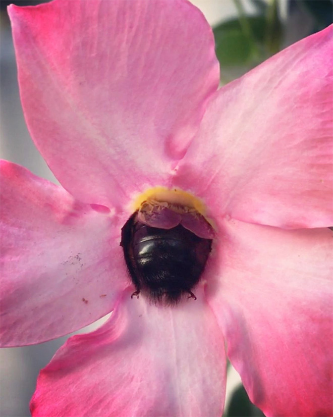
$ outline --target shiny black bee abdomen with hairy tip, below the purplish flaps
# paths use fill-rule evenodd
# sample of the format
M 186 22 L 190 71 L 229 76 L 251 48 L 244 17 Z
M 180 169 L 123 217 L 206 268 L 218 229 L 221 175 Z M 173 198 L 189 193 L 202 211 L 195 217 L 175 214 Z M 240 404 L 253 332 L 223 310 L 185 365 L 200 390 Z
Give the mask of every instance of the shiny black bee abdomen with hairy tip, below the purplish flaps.
M 199 282 L 211 250 L 212 239 L 204 239 L 181 224 L 171 229 L 148 226 L 135 212 L 122 228 L 127 268 L 136 291 L 156 304 L 176 304 Z

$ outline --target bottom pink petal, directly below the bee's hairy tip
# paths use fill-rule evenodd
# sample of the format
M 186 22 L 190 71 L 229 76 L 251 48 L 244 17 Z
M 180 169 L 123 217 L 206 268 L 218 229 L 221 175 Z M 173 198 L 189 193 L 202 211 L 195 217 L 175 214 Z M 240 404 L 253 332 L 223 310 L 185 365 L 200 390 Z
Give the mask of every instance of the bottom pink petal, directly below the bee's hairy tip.
M 95 332 L 71 337 L 37 381 L 34 416 L 220 416 L 223 336 L 202 298 L 156 307 L 125 293 Z

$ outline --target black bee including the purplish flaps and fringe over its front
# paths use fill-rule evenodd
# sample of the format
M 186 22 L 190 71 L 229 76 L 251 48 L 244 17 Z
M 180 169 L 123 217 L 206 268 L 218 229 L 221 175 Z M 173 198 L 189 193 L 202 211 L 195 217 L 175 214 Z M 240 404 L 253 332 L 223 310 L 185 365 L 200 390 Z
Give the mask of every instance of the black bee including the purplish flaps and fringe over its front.
M 205 268 L 212 233 L 193 207 L 144 200 L 122 229 L 121 244 L 136 288 L 133 295 L 142 292 L 152 302 L 168 305 L 185 295 L 195 298 L 192 289 Z

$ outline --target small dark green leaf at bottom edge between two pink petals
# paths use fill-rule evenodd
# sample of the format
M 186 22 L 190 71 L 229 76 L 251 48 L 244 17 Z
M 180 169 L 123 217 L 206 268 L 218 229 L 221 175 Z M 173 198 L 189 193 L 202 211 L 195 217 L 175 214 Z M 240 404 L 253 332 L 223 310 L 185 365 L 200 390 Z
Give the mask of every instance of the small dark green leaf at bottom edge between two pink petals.
M 264 417 L 262 411 L 252 404 L 243 385 L 234 391 L 229 407 L 225 412 L 226 417 Z

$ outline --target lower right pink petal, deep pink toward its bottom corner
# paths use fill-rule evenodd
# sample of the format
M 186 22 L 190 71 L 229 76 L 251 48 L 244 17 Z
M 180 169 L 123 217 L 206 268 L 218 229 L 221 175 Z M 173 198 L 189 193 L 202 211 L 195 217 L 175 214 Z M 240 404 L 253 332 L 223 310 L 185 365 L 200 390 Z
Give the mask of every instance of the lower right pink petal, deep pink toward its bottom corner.
M 250 399 L 267 416 L 331 415 L 331 231 L 230 220 L 223 233 L 208 302 Z

